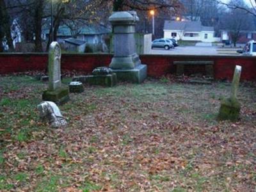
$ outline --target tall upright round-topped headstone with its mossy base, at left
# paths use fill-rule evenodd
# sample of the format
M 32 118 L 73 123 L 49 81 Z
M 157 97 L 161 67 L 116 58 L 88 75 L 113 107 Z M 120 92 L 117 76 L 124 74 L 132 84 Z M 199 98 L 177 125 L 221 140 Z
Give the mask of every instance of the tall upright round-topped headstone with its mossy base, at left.
M 68 88 L 61 84 L 61 48 L 58 42 L 52 42 L 48 56 L 49 86 L 43 93 L 43 100 L 63 104 L 69 100 Z

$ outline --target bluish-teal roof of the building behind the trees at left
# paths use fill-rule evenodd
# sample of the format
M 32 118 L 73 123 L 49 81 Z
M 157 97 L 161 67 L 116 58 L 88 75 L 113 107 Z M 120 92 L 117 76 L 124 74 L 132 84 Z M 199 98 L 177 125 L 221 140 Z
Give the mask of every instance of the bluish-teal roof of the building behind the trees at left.
M 45 34 L 49 34 L 49 29 L 45 29 L 44 33 Z M 101 35 L 101 34 L 106 34 L 106 33 L 111 33 L 111 30 L 101 26 L 101 25 L 86 25 L 81 27 L 80 29 L 78 29 L 77 31 L 79 31 L 79 34 L 81 35 Z M 63 25 L 60 26 L 58 29 L 58 36 L 72 36 L 72 31 L 70 30 L 70 28 L 68 28 L 68 26 Z

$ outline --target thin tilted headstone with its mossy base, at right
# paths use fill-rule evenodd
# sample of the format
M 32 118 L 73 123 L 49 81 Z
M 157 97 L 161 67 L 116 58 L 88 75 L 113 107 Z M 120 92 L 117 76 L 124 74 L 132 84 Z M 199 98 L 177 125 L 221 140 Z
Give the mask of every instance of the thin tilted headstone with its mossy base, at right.
M 237 100 L 237 91 L 239 86 L 239 80 L 241 76 L 242 67 L 236 65 L 232 86 L 231 94 L 229 98 L 223 99 L 221 101 L 220 112 L 218 118 L 220 120 L 238 120 L 239 113 L 241 109 L 241 104 Z

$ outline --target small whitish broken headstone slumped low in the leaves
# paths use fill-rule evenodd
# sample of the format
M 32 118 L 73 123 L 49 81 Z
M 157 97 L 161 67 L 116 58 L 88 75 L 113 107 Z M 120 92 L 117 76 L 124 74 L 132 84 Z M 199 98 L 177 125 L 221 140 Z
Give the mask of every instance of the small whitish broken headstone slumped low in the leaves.
M 54 102 L 41 102 L 37 108 L 40 113 L 40 118 L 44 121 L 48 121 L 52 127 L 63 127 L 67 125 L 67 121 L 61 115 L 60 109 Z

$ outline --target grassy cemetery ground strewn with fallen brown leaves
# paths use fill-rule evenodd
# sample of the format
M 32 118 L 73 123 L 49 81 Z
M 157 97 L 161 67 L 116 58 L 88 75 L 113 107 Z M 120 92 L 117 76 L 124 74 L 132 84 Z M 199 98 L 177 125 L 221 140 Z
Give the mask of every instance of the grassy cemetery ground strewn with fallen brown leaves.
M 255 84 L 239 87 L 236 123 L 216 121 L 230 84 L 86 86 L 62 129 L 38 118 L 45 88 L 0 77 L 0 191 L 255 191 Z

